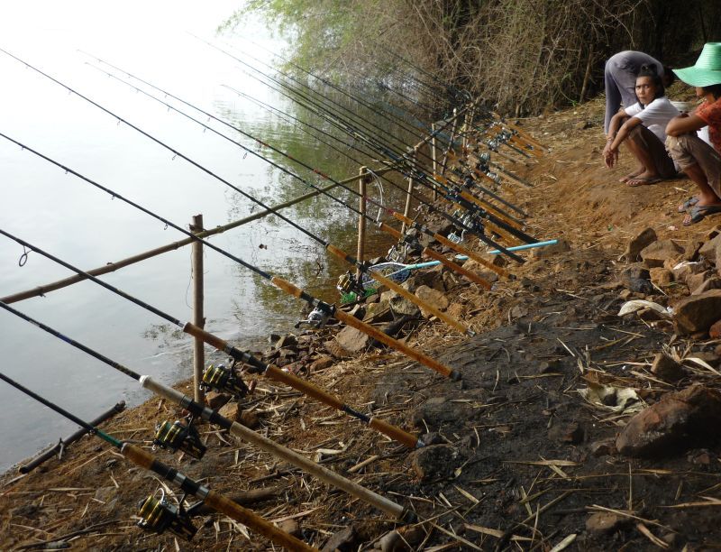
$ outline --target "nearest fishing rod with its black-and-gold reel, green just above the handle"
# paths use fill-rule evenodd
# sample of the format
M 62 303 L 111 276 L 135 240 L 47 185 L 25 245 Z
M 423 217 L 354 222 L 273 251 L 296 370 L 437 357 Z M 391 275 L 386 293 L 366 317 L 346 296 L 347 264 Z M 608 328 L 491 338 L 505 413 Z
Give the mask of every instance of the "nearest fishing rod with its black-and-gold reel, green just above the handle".
M 95 425 L 78 418 L 68 410 L 63 409 L 54 402 L 51 402 L 38 393 L 24 387 L 21 383 L 14 381 L 4 373 L 0 373 L 0 380 L 3 380 L 5 383 L 13 386 L 18 391 L 22 391 L 28 397 L 37 400 L 43 406 L 54 410 L 60 416 L 78 424 L 78 426 L 86 429 L 91 435 L 98 437 L 111 446 L 114 446 L 118 449 L 120 454 L 132 464 L 138 465 L 145 470 L 160 475 L 162 479 L 169 483 L 175 483 L 178 485 L 180 490 L 183 492 L 183 497 L 178 501 L 177 508 L 169 504 L 169 502 L 165 500 L 164 495 L 160 501 L 156 499 L 154 495 L 151 495 L 145 499 L 145 501 L 141 502 L 141 522 L 138 524 L 141 529 L 151 530 L 158 534 L 161 534 L 166 529 L 169 529 L 179 537 L 191 540 L 197 531 L 196 527 L 193 525 L 191 516 L 201 504 L 205 504 L 208 508 L 212 508 L 214 511 L 225 514 L 229 518 L 242 523 L 263 537 L 269 538 L 278 546 L 286 547 L 288 550 L 293 550 L 294 552 L 318 552 L 317 548 L 311 547 L 299 538 L 293 537 L 287 532 L 278 529 L 278 527 L 268 520 L 260 517 L 254 511 L 243 508 L 236 501 L 227 498 L 220 492 L 209 489 L 204 484 L 196 482 L 195 480 L 187 477 L 187 475 L 179 472 L 176 468 L 163 464 L 157 457 L 151 455 L 146 450 L 143 450 L 140 446 L 132 445 L 132 443 L 128 441 L 122 441 L 111 436 L 109 433 L 97 428 Z M 199 502 L 196 502 L 196 504 L 185 510 L 183 508 L 183 501 L 185 501 L 188 494 L 195 496 Z

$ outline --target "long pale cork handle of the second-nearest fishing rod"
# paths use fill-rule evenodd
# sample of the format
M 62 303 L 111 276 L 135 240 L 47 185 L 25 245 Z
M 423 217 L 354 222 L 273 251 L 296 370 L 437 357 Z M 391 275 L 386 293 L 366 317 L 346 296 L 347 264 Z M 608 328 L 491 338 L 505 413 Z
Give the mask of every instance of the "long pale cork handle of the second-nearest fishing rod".
M 210 421 L 221 428 L 227 429 L 234 437 L 238 437 L 246 443 L 257 446 L 260 450 L 285 460 L 287 463 L 295 465 L 297 468 L 308 474 L 315 475 L 315 477 L 324 483 L 337 487 L 338 489 L 351 494 L 351 496 L 378 508 L 380 511 L 385 511 L 388 515 L 393 516 L 395 519 L 410 520 L 412 518 L 413 513 L 404 509 L 400 504 L 390 501 L 379 495 L 377 492 L 372 492 L 365 487 L 362 487 L 358 483 L 353 483 L 351 480 L 346 479 L 342 475 L 336 474 L 328 468 L 316 464 L 313 460 L 306 458 L 306 456 L 299 455 L 297 452 L 290 450 L 286 446 L 278 445 L 278 443 L 270 440 L 268 437 L 263 437 L 260 433 L 257 433 L 250 428 L 246 428 L 238 422 L 232 422 L 230 419 L 221 416 L 216 411 L 196 403 L 194 400 L 183 395 L 180 391 L 176 391 L 167 385 L 156 382 L 151 378 L 151 376 L 142 376 L 141 385 L 143 388 L 160 395 L 160 397 L 163 397 L 171 402 L 175 402 L 183 409 L 190 409 L 194 413 L 200 412 L 200 416 L 203 419 Z

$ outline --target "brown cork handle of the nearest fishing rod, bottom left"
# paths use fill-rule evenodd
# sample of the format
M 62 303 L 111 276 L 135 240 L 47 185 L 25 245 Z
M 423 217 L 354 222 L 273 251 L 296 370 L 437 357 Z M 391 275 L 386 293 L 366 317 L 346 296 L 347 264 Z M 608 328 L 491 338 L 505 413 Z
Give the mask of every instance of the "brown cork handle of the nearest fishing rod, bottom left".
M 264 520 L 254 512 L 243 508 L 237 502 L 224 497 L 224 495 L 219 492 L 211 491 L 186 475 L 180 474 L 175 468 L 163 464 L 155 458 L 155 456 L 141 449 L 139 446 L 123 443 L 120 452 L 133 464 L 139 465 L 155 474 L 159 474 L 168 481 L 178 483 L 184 492 L 192 492 L 198 499 L 204 501 L 206 506 L 242 523 L 263 537 L 269 538 L 275 544 L 286 547 L 293 552 L 311 552 L 313 550 L 317 552 L 316 548 L 306 545 L 305 542 L 287 534 L 285 531 L 281 531 L 268 520 Z

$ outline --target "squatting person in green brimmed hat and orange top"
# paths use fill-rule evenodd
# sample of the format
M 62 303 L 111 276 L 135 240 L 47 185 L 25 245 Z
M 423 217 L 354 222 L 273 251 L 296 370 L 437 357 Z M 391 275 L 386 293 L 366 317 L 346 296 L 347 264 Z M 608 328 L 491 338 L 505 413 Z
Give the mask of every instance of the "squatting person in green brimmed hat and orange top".
M 708 42 L 695 65 L 674 72 L 703 98 L 693 113 L 674 117 L 666 126 L 667 150 L 698 186 L 698 194 L 679 207 L 687 212 L 683 225 L 688 226 L 721 212 L 721 42 Z M 706 125 L 713 147 L 696 134 Z

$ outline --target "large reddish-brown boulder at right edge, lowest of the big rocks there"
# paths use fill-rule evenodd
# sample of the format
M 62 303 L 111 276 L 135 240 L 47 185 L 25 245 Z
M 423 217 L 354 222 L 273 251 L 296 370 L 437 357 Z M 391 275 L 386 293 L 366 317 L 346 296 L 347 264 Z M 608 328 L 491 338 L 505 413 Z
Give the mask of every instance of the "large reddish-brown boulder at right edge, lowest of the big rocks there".
M 666 393 L 652 407 L 629 420 L 616 438 L 616 448 L 627 456 L 670 455 L 716 438 L 721 422 L 721 394 L 703 385 Z

